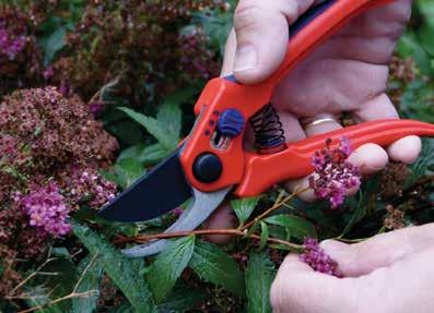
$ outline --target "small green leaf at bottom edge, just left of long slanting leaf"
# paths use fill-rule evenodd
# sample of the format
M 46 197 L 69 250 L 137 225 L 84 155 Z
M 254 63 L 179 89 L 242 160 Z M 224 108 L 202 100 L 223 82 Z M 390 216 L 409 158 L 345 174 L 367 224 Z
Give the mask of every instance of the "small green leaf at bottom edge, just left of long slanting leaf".
M 99 297 L 99 284 L 103 276 L 103 267 L 97 258 L 90 255 L 83 258 L 78 267 L 82 278 L 79 281 L 77 292 L 89 292 L 89 297 L 73 298 L 71 313 L 92 313 L 96 309 Z

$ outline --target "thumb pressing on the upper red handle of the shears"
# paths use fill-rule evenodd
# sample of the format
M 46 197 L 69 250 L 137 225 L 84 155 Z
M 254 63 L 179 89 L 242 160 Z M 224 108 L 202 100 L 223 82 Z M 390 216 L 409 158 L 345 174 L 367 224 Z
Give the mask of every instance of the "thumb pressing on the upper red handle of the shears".
M 234 15 L 234 75 L 244 84 L 259 83 L 275 72 L 288 49 L 289 24 L 314 0 L 241 0 Z M 231 50 L 231 49 L 230 49 Z M 230 56 L 225 56 L 230 58 Z

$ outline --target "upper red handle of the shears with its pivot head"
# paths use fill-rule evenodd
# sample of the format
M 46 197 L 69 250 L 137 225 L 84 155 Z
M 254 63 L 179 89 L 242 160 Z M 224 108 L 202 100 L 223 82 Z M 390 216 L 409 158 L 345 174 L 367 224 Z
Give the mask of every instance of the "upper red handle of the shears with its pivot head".
M 196 125 L 180 153 L 180 161 L 188 181 L 198 190 L 212 192 L 238 184 L 245 170 L 243 136 L 232 139 L 227 149 L 215 148 L 212 135 L 215 133 L 219 113 L 236 108 L 249 120 L 270 101 L 277 83 L 303 60 L 317 45 L 337 32 L 352 16 L 392 0 L 328 0 L 331 5 L 319 16 L 308 21 L 291 38 L 288 56 L 281 68 L 262 84 L 244 86 L 230 79 L 215 79 L 203 89 L 195 106 L 198 115 Z M 199 181 L 193 174 L 195 160 L 203 153 L 212 153 L 223 165 L 220 178 L 211 183 Z

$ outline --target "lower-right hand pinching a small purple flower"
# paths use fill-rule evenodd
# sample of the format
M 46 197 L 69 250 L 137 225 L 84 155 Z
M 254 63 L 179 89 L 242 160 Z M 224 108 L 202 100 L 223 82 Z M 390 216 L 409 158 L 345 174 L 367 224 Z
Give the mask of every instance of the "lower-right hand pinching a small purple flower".
M 314 272 L 297 255 L 289 255 L 270 291 L 273 312 L 433 312 L 434 224 L 357 244 L 320 245 L 343 278 Z

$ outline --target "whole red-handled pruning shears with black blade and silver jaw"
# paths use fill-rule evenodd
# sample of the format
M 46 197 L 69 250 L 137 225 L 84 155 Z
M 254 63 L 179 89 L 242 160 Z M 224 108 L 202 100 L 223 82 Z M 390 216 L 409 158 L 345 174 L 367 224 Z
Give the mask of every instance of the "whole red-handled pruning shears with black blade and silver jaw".
M 327 139 L 337 145 L 348 137 L 354 148 L 380 146 L 408 135 L 434 136 L 434 124 L 413 120 L 376 120 L 285 143 L 279 117 L 269 104 L 277 84 L 315 47 L 339 31 L 351 17 L 394 0 L 326 0 L 290 27 L 285 60 L 266 82 L 242 85 L 231 75 L 211 80 L 195 106 L 196 124 L 179 147 L 146 176 L 105 206 L 101 216 L 121 222 L 143 221 L 193 201 L 166 232 L 200 226 L 227 194 L 255 196 L 274 184 L 313 172 L 316 151 Z M 255 131 L 255 149 L 243 147 L 246 123 Z M 166 240 L 124 250 L 131 257 L 164 250 Z

